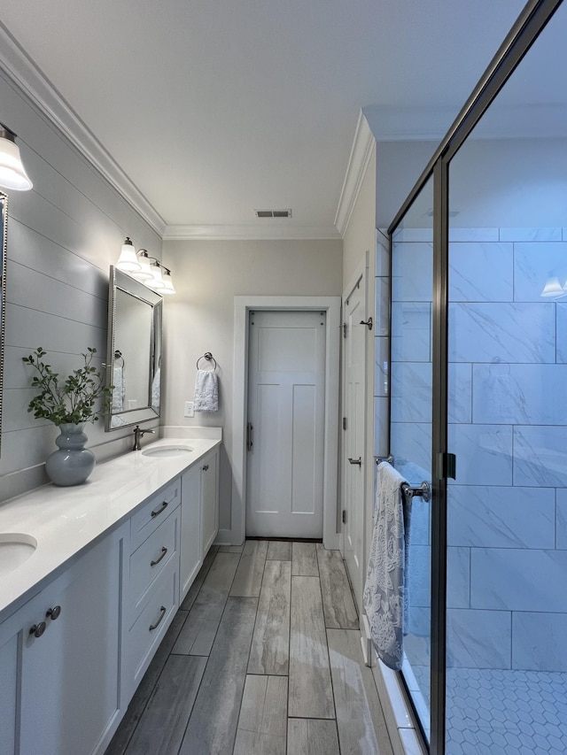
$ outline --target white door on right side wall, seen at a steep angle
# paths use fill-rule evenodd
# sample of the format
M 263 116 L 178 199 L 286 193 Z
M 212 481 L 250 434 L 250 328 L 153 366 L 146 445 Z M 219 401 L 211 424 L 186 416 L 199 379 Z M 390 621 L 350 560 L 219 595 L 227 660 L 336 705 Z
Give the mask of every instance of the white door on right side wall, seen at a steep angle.
M 343 558 L 361 609 L 364 582 L 364 436 L 366 285 L 361 276 L 344 302 Z

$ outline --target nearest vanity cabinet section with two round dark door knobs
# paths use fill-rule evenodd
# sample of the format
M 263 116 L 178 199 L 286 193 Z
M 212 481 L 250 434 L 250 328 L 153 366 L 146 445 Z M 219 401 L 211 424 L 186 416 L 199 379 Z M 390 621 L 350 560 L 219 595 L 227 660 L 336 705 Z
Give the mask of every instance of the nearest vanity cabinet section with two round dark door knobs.
M 81 755 L 107 743 L 120 694 L 128 523 L 0 625 L 2 755 Z

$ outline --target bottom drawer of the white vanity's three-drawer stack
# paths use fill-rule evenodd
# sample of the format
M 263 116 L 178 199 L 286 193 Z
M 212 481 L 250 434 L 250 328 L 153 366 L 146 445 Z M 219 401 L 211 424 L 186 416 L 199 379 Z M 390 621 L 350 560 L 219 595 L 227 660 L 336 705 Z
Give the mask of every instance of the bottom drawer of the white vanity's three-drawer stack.
M 153 583 L 148 602 L 128 632 L 128 682 L 132 692 L 177 612 L 178 595 L 178 570 L 172 559 Z

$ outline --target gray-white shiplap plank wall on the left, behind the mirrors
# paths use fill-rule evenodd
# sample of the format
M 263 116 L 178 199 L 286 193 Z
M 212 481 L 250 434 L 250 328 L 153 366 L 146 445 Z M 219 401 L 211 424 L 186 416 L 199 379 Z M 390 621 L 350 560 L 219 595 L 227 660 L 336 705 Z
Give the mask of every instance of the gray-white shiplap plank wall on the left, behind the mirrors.
M 18 134 L 34 189 L 8 200 L 8 266 L 0 500 L 43 484 L 43 462 L 58 430 L 27 413 L 32 371 L 21 358 L 43 346 L 50 365 L 68 374 L 94 346 L 105 360 L 109 266 L 126 235 L 159 256 L 161 241 L 35 106 L 0 73 L 0 121 Z M 98 458 L 128 442 L 104 422 L 86 428 Z M 110 443 L 110 445 L 108 445 Z

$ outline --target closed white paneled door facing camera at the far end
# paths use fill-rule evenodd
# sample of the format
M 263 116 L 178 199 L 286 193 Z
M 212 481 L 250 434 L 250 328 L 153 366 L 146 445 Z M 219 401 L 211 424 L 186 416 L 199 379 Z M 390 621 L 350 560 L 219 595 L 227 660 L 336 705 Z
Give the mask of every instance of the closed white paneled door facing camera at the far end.
M 322 537 L 325 312 L 251 312 L 246 535 Z

